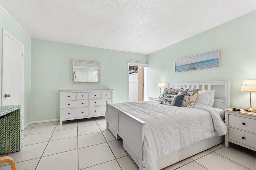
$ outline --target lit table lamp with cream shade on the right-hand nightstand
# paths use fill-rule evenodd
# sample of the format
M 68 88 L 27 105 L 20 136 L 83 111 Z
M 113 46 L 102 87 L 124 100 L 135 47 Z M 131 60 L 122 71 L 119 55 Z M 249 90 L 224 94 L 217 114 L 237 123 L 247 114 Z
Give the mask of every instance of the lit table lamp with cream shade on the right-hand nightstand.
M 255 79 L 244 80 L 241 91 L 250 92 L 250 107 L 244 110 L 250 111 L 250 112 L 256 112 L 256 109 L 252 108 L 252 95 L 251 95 L 251 92 L 256 92 L 256 80 Z

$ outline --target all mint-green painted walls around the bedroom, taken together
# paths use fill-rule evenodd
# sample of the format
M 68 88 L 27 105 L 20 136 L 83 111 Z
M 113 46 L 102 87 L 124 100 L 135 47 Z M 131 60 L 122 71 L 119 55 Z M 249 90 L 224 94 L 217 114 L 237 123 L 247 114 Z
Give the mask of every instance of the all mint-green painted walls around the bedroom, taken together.
M 31 39 L 2 8 L 0 51 L 2 28 L 24 44 L 25 125 L 59 119 L 58 90 L 111 88 L 115 89 L 115 103 L 127 102 L 128 60 L 148 61 L 148 96 L 153 97 L 159 96 L 158 82 L 231 80 L 230 107 L 244 108 L 249 106 L 249 93 L 240 92 L 242 82 L 256 79 L 256 11 L 148 56 Z M 220 49 L 220 67 L 175 73 L 175 60 L 216 49 Z M 72 59 L 100 62 L 101 83 L 71 84 Z M 252 106 L 256 107 L 256 93 L 252 93 Z

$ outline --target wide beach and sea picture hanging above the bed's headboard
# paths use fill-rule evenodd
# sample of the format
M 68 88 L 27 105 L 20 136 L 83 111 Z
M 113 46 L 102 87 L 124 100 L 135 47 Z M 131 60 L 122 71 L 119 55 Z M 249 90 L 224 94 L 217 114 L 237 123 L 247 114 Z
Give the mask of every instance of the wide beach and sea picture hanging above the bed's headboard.
M 220 66 L 220 50 L 187 57 L 175 61 L 175 72 L 199 70 Z

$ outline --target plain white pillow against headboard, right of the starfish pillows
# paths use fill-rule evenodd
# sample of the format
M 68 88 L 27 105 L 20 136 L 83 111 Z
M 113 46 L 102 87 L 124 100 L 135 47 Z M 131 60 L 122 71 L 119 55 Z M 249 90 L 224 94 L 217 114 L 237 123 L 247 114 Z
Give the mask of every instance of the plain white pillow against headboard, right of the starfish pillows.
M 198 92 L 195 104 L 203 104 L 212 107 L 215 90 L 202 90 Z

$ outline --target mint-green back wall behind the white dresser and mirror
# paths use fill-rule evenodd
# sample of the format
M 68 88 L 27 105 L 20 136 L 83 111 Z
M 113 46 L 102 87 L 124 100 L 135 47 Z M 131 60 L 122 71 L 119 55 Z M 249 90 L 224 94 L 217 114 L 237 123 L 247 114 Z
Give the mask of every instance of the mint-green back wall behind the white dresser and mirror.
M 71 84 L 71 60 L 100 62 L 100 84 Z M 32 39 L 31 121 L 60 118 L 58 90 L 114 89 L 113 102 L 127 102 L 128 61 L 147 56 Z

